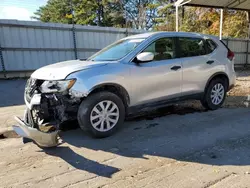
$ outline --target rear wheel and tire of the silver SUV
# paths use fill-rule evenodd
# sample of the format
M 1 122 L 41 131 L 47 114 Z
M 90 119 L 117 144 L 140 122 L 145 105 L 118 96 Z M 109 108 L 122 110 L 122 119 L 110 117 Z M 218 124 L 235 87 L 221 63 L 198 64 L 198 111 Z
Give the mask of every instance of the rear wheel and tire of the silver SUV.
M 220 108 L 225 101 L 226 92 L 227 82 L 224 79 L 215 78 L 211 80 L 205 90 L 203 99 L 201 100 L 202 106 L 208 110 L 216 110 Z M 212 97 L 212 95 L 214 97 Z

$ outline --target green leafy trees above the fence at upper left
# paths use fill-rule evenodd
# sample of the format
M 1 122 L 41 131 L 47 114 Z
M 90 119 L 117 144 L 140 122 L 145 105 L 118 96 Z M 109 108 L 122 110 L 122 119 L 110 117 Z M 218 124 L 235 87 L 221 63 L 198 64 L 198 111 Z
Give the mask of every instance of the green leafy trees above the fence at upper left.
M 34 18 L 42 22 L 72 23 L 73 20 L 76 24 L 113 26 L 118 18 L 121 20 L 120 16 L 114 17 L 119 14 L 118 6 L 114 0 L 49 0 L 35 12 Z M 72 13 L 74 19 L 66 16 Z

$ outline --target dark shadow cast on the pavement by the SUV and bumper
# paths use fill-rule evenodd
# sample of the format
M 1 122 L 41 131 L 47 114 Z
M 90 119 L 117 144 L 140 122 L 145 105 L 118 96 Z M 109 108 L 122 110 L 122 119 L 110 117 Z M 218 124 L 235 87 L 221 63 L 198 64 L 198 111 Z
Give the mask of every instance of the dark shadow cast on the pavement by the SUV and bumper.
M 158 156 L 209 165 L 249 165 L 250 126 L 247 125 L 250 110 L 200 112 L 204 109 L 170 106 L 128 118 L 124 127 L 109 138 L 93 139 L 80 129 L 62 132 L 61 136 L 64 142 L 77 148 L 101 150 L 130 158 L 147 160 L 150 156 Z M 183 116 L 187 113 L 191 114 Z M 242 116 L 237 119 L 239 115 Z M 99 176 L 111 177 L 119 171 L 86 159 L 84 153 L 76 154 L 68 146 L 44 151 L 62 158 L 77 169 Z

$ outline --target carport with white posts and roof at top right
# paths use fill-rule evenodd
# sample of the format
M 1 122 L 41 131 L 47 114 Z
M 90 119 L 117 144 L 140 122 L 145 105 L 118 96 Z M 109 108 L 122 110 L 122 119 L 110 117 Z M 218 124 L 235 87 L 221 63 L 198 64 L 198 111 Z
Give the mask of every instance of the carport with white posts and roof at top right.
M 250 12 L 250 0 L 177 0 L 176 7 L 176 31 L 179 31 L 179 7 L 180 6 L 197 6 L 206 8 L 219 8 L 220 12 L 220 39 L 222 39 L 223 30 L 223 10 L 243 10 Z M 248 13 L 248 22 L 250 28 L 250 18 Z M 250 30 L 250 29 L 249 29 Z

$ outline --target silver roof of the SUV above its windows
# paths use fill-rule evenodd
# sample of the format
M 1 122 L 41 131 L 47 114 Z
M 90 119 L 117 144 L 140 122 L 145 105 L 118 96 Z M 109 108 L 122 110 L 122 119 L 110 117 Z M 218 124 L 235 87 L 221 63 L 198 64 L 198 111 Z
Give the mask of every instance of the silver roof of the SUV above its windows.
M 167 31 L 158 31 L 158 32 L 148 32 L 148 33 L 142 33 L 138 35 L 131 35 L 128 36 L 124 39 L 135 39 L 135 38 L 148 38 L 152 36 L 179 36 L 179 37 L 207 37 L 207 38 L 213 38 L 215 36 L 210 36 L 210 35 L 204 35 L 200 33 L 191 33 L 191 32 L 167 32 Z

